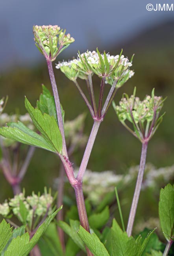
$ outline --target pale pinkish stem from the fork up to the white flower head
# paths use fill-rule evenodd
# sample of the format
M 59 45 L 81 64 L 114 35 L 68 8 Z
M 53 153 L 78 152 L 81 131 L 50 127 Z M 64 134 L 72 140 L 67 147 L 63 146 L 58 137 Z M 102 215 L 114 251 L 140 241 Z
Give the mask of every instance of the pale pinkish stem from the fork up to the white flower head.
M 87 146 L 85 148 L 83 159 L 81 161 L 80 169 L 79 169 L 79 172 L 78 172 L 78 175 L 77 175 L 77 180 L 80 183 L 83 180 L 83 176 L 85 174 L 85 170 L 86 170 L 86 167 L 87 167 L 87 164 L 88 164 L 88 161 L 89 161 L 89 157 L 91 155 L 91 151 L 92 151 L 92 148 L 93 148 L 93 145 L 94 145 L 94 141 L 95 141 L 100 123 L 101 123 L 101 121 L 94 121 L 93 128 L 91 130 L 91 134 L 89 136 L 88 143 L 87 143 Z

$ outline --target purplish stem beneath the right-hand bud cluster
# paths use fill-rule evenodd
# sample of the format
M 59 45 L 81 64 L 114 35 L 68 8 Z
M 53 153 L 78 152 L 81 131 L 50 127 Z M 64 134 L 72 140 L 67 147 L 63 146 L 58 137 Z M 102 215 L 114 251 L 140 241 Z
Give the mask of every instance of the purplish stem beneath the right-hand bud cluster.
M 126 230 L 128 236 L 131 236 L 131 234 L 132 234 L 133 223 L 134 223 L 135 214 L 137 211 L 137 205 L 138 205 L 138 201 L 139 201 L 139 195 L 140 195 L 140 191 L 141 191 L 141 185 L 143 182 L 143 174 L 144 174 L 145 163 L 146 163 L 147 147 L 148 147 L 148 143 L 143 142 L 137 183 L 136 183 L 136 187 L 135 187 L 135 191 L 134 191 L 134 195 L 133 195 L 133 201 L 132 201 L 132 205 L 131 205 L 128 226 L 127 226 L 127 230 Z

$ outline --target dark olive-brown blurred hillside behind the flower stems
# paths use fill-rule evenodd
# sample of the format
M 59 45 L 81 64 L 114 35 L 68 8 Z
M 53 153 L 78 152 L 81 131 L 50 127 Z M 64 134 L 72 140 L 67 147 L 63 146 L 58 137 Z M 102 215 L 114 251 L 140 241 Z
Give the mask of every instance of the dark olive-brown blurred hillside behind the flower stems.
M 135 75 L 118 91 L 115 99 L 117 103 L 122 93 L 132 94 L 134 86 L 137 87 L 137 96 L 141 98 L 146 94 L 150 94 L 153 87 L 155 87 L 156 95 L 168 97 L 162 110 L 162 113 L 166 111 L 163 123 L 149 143 L 148 148 L 147 161 L 152 162 L 157 167 L 174 163 L 173 28 L 174 22 L 161 24 L 142 31 L 136 37 L 122 42 L 119 46 L 115 42 L 115 46 L 112 48 L 107 49 L 107 46 L 105 48 L 106 52 L 114 55 L 119 54 L 120 49 L 123 48 L 123 54 L 128 58 L 135 54 L 132 66 Z M 74 84 L 60 70 L 55 69 L 55 73 L 61 103 L 65 109 L 65 119 L 73 119 L 83 111 L 87 111 L 85 103 Z M 25 113 L 24 95 L 35 105 L 41 93 L 41 83 L 51 89 L 44 59 L 43 63 L 33 63 L 31 69 L 28 67 L 13 67 L 1 74 L 1 96 L 9 95 L 6 111 L 11 113 L 19 108 L 21 113 Z M 99 94 L 99 79 L 95 76 L 94 84 L 96 86 L 96 94 Z M 92 124 L 91 117 L 87 115 L 86 134 L 89 134 Z M 113 109 L 110 108 L 100 127 L 88 168 L 94 171 L 112 169 L 118 173 L 126 172 L 127 167 L 130 165 L 139 164 L 140 150 L 141 144 L 139 141 L 125 130 L 118 122 Z M 82 155 L 83 152 L 74 154 L 74 160 L 77 165 L 80 164 Z M 58 161 L 54 154 L 37 149 L 23 182 L 26 190 L 30 193 L 33 189 L 37 191 L 45 185 L 51 186 L 53 178 L 58 175 Z M 37 177 L 35 176 L 36 173 Z M 1 180 L 4 181 L 2 174 Z

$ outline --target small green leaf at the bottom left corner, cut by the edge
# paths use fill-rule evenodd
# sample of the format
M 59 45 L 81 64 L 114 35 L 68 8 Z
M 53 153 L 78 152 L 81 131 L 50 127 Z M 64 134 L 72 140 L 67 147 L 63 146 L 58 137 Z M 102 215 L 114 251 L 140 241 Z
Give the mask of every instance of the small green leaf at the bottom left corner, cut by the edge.
M 0 252 L 5 248 L 7 242 L 9 241 L 12 235 L 12 228 L 10 228 L 10 224 L 2 220 L 0 223 Z

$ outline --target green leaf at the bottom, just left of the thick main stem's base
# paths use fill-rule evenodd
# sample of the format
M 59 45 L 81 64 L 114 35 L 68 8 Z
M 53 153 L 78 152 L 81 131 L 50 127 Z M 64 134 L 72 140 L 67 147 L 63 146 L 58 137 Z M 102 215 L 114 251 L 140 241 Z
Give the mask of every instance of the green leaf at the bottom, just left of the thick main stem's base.
M 63 231 L 71 237 L 71 239 L 74 241 L 74 243 L 76 243 L 76 245 L 78 245 L 78 247 L 80 247 L 81 250 L 83 250 L 84 252 L 86 251 L 85 249 L 85 245 L 84 243 L 81 241 L 80 237 L 77 234 L 77 229 L 74 229 L 75 226 L 77 226 L 78 223 L 78 228 L 79 228 L 79 221 L 70 221 L 70 225 L 69 226 L 67 223 L 65 223 L 64 221 L 59 221 L 57 224 L 59 227 L 61 227 L 63 229 Z

